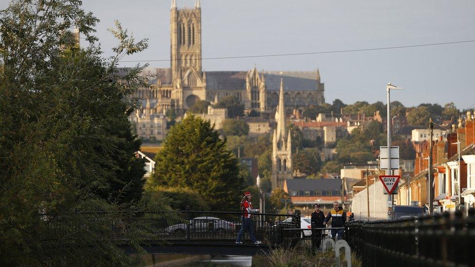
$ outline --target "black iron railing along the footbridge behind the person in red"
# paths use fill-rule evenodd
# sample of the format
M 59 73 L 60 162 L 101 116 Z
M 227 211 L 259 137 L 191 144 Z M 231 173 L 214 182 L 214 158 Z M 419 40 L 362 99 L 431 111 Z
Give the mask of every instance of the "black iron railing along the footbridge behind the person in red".
M 167 216 L 178 215 L 172 221 Z M 71 227 L 65 225 L 57 215 L 40 214 L 40 221 L 47 225 L 50 233 L 65 231 L 65 228 L 87 228 L 103 226 L 110 231 L 109 238 L 127 241 L 130 233 L 143 232 L 147 241 L 178 241 L 178 242 L 235 242 L 242 225 L 241 212 L 203 212 L 203 211 L 164 211 L 141 212 L 131 214 L 81 213 L 87 223 Z M 264 244 L 280 245 L 283 229 L 300 228 L 300 211 L 294 214 L 253 214 L 253 230 L 257 240 Z M 57 234 L 56 234 L 57 235 Z M 242 237 L 245 243 L 249 240 L 246 231 Z

